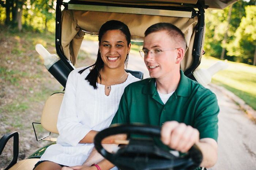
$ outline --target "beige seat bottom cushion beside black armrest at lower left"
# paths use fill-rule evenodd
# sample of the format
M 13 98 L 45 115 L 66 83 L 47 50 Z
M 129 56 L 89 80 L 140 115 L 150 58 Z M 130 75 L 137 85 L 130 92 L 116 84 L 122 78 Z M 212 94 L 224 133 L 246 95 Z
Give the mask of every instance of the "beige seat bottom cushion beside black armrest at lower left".
M 33 170 L 35 164 L 39 161 L 39 158 L 25 159 L 17 162 L 9 170 Z

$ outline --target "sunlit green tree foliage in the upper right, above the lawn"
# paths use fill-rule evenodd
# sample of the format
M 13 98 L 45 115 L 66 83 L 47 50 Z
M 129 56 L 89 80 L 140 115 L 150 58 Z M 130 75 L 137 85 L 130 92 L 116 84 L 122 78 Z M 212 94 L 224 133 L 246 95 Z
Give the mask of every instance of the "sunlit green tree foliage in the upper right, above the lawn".
M 234 3 L 230 24 L 227 22 L 229 8 L 206 11 L 206 35 L 204 42 L 206 55 L 220 58 L 222 49 L 226 48 L 227 53 L 224 59 L 252 64 L 256 48 L 255 0 L 249 2 L 237 1 L 237 3 Z M 227 40 L 223 42 L 226 32 Z

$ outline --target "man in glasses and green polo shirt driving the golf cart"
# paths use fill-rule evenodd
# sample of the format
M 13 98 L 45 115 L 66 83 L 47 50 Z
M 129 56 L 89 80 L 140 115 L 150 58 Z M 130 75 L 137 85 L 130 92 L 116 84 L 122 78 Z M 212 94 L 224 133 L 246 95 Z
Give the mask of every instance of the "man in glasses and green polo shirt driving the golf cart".
M 214 93 L 180 70 L 185 49 L 183 33 L 172 24 L 146 30 L 140 53 L 151 78 L 125 88 L 112 124 L 160 126 L 164 144 L 180 152 L 196 144 L 203 154 L 200 166 L 209 168 L 217 161 L 219 107 Z

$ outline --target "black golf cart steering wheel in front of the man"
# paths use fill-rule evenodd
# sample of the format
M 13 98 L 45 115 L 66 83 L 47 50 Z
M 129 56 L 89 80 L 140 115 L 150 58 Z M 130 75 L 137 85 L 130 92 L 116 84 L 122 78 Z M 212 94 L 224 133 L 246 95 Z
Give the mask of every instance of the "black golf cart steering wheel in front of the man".
M 119 125 L 106 128 L 99 132 L 94 138 L 96 150 L 121 170 L 183 170 L 195 169 L 202 162 L 202 152 L 196 145 L 182 156 L 174 156 L 169 151 L 158 147 L 153 138 L 159 139 L 161 129 L 159 127 L 144 125 Z M 116 134 L 147 135 L 151 140 L 145 138 L 131 138 L 129 144 L 121 147 L 117 152 L 106 151 L 101 141 Z

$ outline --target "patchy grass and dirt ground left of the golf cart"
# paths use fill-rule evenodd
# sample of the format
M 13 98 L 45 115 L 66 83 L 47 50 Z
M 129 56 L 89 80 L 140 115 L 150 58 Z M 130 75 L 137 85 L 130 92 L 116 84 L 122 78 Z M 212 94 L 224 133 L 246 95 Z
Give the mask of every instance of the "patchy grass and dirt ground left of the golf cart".
M 23 125 L 23 121 L 31 119 L 30 113 L 40 115 L 35 105 L 41 109 L 50 94 L 63 90 L 61 85 L 50 85 L 56 84 L 56 80 L 35 51 L 35 45 L 40 43 L 55 54 L 55 35 L 4 28 L 0 31 L 0 42 L 0 121 L 11 124 L 5 131 L 24 129 L 30 127 L 30 123 Z

